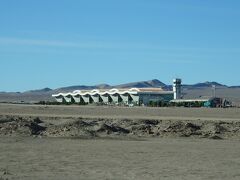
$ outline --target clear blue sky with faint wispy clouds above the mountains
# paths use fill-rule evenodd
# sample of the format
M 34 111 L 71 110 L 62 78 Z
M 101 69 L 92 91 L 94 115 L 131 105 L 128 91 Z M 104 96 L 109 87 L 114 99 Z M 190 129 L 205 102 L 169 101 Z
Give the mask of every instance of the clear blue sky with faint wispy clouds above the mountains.
M 2 0 L 0 91 L 159 79 L 240 85 L 238 0 Z

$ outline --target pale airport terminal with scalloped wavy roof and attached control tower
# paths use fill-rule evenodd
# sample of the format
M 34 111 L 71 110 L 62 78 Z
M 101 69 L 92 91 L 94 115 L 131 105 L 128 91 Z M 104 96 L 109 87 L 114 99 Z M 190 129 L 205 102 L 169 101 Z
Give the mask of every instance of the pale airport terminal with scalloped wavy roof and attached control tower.
M 150 102 L 169 102 L 179 98 L 181 94 L 181 80 L 173 81 L 173 91 L 162 88 L 130 88 L 130 89 L 93 89 L 75 90 L 69 93 L 58 93 L 52 96 L 59 103 L 101 103 L 124 105 L 148 105 Z

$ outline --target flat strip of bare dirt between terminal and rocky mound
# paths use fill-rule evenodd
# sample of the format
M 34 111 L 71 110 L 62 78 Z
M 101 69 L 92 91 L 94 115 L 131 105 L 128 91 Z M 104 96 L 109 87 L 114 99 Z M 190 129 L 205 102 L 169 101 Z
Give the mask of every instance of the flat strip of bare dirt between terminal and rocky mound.
M 146 108 L 114 106 L 41 106 L 0 104 L 0 115 L 60 118 L 131 118 L 176 120 L 239 120 L 240 108 Z

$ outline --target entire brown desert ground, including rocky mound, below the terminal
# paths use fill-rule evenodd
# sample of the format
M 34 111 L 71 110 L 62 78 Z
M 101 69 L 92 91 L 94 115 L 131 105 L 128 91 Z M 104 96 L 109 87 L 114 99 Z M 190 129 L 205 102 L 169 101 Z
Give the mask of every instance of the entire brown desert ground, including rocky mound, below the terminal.
M 240 109 L 0 104 L 0 179 L 240 179 Z

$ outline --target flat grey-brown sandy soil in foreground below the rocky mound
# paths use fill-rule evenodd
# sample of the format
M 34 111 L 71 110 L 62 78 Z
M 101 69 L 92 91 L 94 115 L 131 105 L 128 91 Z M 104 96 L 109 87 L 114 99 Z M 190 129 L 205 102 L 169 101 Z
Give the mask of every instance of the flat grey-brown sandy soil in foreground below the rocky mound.
M 240 179 L 239 141 L 0 138 L 2 179 Z

